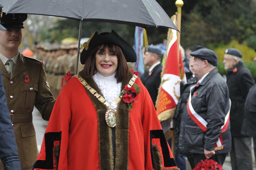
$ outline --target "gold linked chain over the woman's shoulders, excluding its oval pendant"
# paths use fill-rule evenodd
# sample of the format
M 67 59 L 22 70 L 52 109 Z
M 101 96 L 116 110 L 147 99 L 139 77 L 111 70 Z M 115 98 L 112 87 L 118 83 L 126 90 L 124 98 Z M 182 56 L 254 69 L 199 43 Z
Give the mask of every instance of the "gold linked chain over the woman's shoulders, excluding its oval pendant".
M 105 100 L 105 98 L 103 96 L 101 96 L 94 88 L 92 88 L 85 80 L 84 78 L 80 77 L 78 74 L 76 74 L 74 77 L 76 77 L 82 85 L 84 85 L 85 88 L 87 88 L 101 103 L 105 104 L 107 107 L 112 106 L 113 102 L 110 104 L 108 103 L 107 100 Z M 132 87 L 132 85 L 134 84 L 136 78 L 138 78 L 138 76 L 136 76 L 135 74 L 133 74 L 132 78 L 130 79 L 129 83 L 127 84 L 128 87 Z M 124 91 L 124 89 L 122 90 L 122 92 Z M 122 93 L 121 92 L 121 93 Z M 118 96 L 115 101 L 116 103 L 119 103 L 119 101 L 122 99 L 122 95 Z

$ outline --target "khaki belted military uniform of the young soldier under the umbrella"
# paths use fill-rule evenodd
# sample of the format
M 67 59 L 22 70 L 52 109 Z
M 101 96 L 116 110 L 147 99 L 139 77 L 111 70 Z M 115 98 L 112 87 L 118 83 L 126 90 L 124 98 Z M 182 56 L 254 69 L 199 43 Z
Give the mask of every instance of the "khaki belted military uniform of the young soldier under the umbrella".
M 35 106 L 43 119 L 49 120 L 55 99 L 50 91 L 44 66 L 39 60 L 19 54 L 12 77 L 1 60 L 0 67 L 21 169 L 32 170 L 38 155 L 32 111 Z M 29 79 L 27 82 L 26 75 Z

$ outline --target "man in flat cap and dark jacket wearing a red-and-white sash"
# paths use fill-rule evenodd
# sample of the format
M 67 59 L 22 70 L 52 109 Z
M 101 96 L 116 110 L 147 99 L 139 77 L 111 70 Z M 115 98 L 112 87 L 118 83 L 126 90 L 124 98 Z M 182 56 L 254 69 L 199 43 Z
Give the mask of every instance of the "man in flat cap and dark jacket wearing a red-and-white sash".
M 195 76 L 199 79 L 190 87 L 180 123 L 179 149 L 190 152 L 195 165 L 204 159 L 213 159 L 223 165 L 231 150 L 228 120 L 230 100 L 228 86 L 218 73 L 217 55 L 202 48 L 191 52 Z

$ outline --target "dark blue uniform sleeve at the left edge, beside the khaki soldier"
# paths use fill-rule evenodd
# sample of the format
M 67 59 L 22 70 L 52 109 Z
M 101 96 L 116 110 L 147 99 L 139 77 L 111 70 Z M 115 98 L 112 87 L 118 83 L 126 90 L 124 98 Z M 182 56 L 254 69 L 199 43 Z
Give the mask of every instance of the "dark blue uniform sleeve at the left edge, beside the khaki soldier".
M 0 75 L 2 75 L 1 69 Z M 0 159 L 4 170 L 20 170 L 20 160 L 7 107 L 2 76 L 0 76 Z

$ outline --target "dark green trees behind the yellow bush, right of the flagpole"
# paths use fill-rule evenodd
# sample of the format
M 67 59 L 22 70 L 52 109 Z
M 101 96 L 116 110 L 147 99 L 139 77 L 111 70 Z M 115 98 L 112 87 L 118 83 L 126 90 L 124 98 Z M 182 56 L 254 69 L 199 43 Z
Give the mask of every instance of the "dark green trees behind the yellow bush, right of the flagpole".
M 182 46 L 207 47 L 218 42 L 228 44 L 232 40 L 244 42 L 256 34 L 255 7 L 256 3 L 253 0 L 184 0 Z

